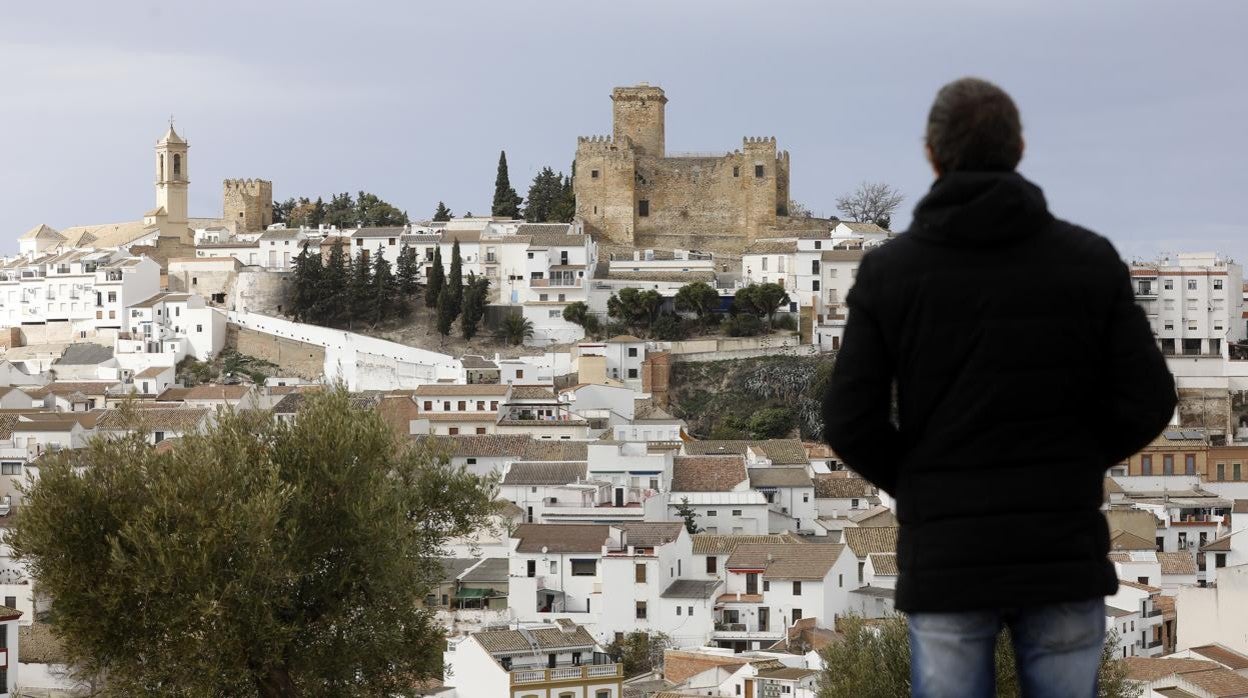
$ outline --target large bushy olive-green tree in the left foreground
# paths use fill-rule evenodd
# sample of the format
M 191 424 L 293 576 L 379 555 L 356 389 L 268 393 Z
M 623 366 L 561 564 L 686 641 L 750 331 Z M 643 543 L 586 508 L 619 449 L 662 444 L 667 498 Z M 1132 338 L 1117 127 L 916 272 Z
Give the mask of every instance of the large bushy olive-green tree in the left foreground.
M 293 423 L 223 412 L 172 450 L 92 440 L 40 474 L 6 542 L 110 696 L 408 696 L 442 676 L 422 603 L 439 557 L 494 511 L 490 482 L 342 390 Z

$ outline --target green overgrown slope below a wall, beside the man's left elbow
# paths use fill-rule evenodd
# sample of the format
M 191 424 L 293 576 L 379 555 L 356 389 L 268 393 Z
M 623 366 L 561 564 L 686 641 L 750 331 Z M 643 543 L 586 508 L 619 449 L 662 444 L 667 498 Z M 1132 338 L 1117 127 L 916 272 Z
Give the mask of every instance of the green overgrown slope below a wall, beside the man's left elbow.
M 671 366 L 670 411 L 699 438 L 822 436 L 832 356 L 770 356 Z

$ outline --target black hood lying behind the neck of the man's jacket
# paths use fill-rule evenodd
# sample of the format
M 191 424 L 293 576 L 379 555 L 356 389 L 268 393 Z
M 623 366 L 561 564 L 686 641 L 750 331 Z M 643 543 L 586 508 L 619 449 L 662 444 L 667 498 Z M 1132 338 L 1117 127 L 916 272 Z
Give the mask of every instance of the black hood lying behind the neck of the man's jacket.
M 995 246 L 1036 235 L 1052 220 L 1045 192 L 1018 172 L 950 172 L 915 206 L 910 232 L 945 245 Z

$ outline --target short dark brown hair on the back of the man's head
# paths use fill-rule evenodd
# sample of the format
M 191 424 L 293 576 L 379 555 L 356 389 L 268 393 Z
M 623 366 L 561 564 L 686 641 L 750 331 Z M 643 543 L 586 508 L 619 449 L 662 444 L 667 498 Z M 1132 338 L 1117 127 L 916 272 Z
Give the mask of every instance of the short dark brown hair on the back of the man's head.
M 927 147 L 941 172 L 1012 171 L 1022 159 L 1018 107 L 987 80 L 955 80 L 927 114 Z

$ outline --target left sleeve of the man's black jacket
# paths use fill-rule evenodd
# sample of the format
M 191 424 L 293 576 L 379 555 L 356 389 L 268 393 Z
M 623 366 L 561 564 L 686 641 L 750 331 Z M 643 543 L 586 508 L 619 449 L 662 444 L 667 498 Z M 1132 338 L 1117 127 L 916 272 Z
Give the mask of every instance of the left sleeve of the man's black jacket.
M 867 255 L 846 297 L 849 322 L 824 393 L 824 438 L 850 468 L 896 494 L 902 450 L 890 418 L 892 361 L 875 315 L 870 262 Z

